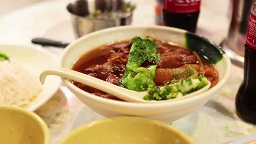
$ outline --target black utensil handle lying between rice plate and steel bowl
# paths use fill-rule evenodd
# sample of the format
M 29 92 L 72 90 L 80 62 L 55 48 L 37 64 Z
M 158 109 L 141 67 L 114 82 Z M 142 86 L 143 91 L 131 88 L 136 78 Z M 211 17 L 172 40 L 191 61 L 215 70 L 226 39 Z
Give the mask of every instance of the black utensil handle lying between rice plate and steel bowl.
M 69 44 L 68 43 L 62 43 L 61 41 L 55 41 L 55 40 L 50 40 L 50 39 L 45 39 L 45 38 L 34 38 L 31 40 L 33 44 L 39 44 L 42 46 L 55 46 L 55 47 L 67 47 Z

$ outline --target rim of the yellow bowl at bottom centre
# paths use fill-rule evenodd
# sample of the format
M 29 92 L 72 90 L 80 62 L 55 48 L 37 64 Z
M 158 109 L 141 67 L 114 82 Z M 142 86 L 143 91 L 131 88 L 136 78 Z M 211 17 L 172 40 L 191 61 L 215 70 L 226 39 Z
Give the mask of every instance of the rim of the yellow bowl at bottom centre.
M 103 119 L 98 119 L 96 121 L 86 123 L 86 124 L 82 125 L 81 127 L 72 130 L 70 133 L 65 135 L 58 143 L 59 144 L 65 143 L 65 141 L 67 141 L 71 137 L 74 137 L 78 133 L 80 133 L 80 132 L 86 130 L 87 128 L 90 128 L 96 124 L 103 124 L 103 123 L 108 123 L 108 122 L 112 122 L 112 121 L 130 121 L 130 120 L 136 120 L 136 122 L 144 122 L 144 123 L 158 125 L 162 128 L 165 128 L 168 131 L 173 131 L 174 133 L 180 135 L 182 137 L 182 139 L 184 139 L 185 141 L 188 141 L 189 143 L 195 143 L 194 140 L 191 139 L 191 137 L 189 137 L 188 135 L 183 133 L 181 130 L 174 128 L 170 124 L 167 124 L 165 122 L 161 122 L 161 121 L 158 121 L 155 119 L 150 119 L 150 118 L 145 118 L 145 117 L 132 117 L 132 116 L 119 116 L 119 117 L 112 117 L 112 118 L 103 118 Z

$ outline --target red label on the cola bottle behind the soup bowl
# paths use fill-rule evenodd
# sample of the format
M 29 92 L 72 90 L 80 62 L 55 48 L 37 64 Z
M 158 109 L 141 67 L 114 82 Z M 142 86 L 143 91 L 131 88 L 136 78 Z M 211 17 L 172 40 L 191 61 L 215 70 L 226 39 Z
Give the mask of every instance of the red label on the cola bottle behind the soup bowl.
M 165 0 L 164 10 L 170 13 L 189 14 L 200 10 L 201 0 Z

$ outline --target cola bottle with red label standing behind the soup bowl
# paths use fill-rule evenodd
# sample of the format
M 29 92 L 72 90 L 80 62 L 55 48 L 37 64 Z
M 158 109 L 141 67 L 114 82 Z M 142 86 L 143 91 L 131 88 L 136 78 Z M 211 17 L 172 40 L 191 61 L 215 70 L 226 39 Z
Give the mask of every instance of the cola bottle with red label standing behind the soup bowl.
M 164 25 L 196 31 L 201 0 L 164 0 Z

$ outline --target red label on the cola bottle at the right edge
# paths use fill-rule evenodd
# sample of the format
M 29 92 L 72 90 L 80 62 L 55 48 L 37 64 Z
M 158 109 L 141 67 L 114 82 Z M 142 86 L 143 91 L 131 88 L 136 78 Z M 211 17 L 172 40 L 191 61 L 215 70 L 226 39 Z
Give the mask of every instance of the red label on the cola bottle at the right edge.
M 251 13 L 247 29 L 246 44 L 256 50 L 256 16 Z

